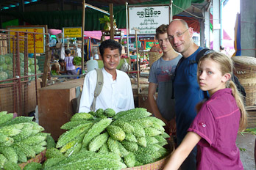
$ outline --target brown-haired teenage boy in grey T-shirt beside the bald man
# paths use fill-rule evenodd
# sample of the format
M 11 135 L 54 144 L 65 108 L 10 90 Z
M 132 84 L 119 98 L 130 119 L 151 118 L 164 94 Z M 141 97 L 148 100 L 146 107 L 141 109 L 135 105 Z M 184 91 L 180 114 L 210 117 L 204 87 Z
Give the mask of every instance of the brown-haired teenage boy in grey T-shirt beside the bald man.
M 162 119 L 166 123 L 167 133 L 176 133 L 174 99 L 171 99 L 172 78 L 182 57 L 174 51 L 167 36 L 168 25 L 161 25 L 156 29 L 156 38 L 163 56 L 150 66 L 149 72 L 149 103 L 154 117 Z M 158 86 L 157 100 L 154 95 Z

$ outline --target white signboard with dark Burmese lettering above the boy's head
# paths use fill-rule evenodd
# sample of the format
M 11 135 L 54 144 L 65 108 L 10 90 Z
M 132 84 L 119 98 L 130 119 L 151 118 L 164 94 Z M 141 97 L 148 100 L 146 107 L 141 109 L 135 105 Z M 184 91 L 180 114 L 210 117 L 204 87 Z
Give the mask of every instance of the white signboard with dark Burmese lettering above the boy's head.
M 168 6 L 129 7 L 129 34 L 135 34 L 133 28 L 139 29 L 137 34 L 155 34 L 155 29 L 168 24 L 170 18 Z

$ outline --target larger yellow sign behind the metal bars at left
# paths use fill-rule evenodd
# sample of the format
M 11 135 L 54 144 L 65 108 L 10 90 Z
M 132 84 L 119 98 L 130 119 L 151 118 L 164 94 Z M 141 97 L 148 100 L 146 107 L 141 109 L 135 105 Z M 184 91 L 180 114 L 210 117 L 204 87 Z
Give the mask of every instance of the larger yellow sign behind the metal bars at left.
M 10 27 L 8 28 L 10 31 L 17 31 L 18 35 L 21 37 L 25 37 L 25 32 L 35 32 L 35 33 L 45 33 L 44 27 L 20 27 L 20 28 L 14 28 Z M 16 32 L 10 32 L 10 34 L 15 35 Z M 34 53 L 34 45 L 35 45 L 35 53 L 44 53 L 44 34 L 35 34 L 35 42 L 34 42 L 34 34 L 28 33 L 28 45 L 25 47 L 25 40 L 20 39 L 19 40 L 19 49 L 21 53 L 24 53 L 24 51 L 28 51 L 29 53 Z M 15 44 L 15 43 L 14 43 Z M 13 39 L 10 40 L 10 50 L 13 53 Z

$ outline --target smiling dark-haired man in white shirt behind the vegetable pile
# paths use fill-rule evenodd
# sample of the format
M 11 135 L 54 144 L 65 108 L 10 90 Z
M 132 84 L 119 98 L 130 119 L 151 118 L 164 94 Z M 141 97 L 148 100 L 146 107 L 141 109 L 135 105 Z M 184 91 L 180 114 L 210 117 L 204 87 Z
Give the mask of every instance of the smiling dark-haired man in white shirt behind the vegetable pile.
M 115 113 L 134 108 L 132 85 L 127 73 L 116 70 L 121 59 L 121 45 L 115 40 L 105 40 L 99 46 L 104 67 L 102 92 L 96 98 L 95 110 L 113 108 Z M 89 112 L 93 103 L 97 73 L 91 70 L 86 76 L 82 89 L 79 112 Z

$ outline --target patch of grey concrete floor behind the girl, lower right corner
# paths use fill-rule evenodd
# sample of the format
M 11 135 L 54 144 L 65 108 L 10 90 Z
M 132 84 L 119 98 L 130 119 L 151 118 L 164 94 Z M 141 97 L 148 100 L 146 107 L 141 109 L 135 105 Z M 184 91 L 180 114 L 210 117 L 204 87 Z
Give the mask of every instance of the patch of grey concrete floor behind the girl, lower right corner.
M 236 144 L 240 150 L 240 158 L 244 170 L 255 170 L 255 138 L 251 133 L 238 134 Z

